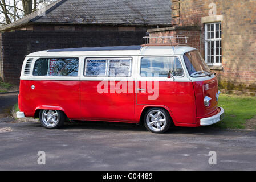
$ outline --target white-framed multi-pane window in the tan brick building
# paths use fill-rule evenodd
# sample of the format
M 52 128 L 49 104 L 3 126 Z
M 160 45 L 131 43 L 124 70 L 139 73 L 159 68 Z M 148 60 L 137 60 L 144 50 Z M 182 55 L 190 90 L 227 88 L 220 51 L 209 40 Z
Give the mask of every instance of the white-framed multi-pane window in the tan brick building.
M 205 61 L 208 65 L 221 65 L 221 22 L 205 24 Z

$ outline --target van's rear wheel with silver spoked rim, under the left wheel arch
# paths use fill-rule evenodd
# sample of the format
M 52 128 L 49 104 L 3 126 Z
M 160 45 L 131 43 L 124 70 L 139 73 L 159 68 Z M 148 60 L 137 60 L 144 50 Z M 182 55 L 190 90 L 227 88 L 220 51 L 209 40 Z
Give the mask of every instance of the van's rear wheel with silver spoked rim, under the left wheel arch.
M 63 126 L 65 115 L 59 110 L 40 110 L 40 123 L 47 129 L 58 129 Z

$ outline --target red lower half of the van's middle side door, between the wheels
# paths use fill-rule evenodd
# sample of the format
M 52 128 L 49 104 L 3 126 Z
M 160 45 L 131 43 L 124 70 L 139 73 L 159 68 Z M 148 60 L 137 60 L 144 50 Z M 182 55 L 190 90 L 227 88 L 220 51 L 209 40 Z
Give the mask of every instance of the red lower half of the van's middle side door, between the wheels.
M 135 122 L 133 88 L 134 81 L 81 81 L 82 118 Z

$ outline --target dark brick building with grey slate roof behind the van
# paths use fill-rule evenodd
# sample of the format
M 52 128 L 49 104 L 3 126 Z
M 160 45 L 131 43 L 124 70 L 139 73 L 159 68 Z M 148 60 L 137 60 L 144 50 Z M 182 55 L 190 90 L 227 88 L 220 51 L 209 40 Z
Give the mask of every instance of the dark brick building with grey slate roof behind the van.
M 147 29 L 171 26 L 170 0 L 58 0 L 0 27 L 0 80 L 19 84 L 35 51 L 143 44 Z

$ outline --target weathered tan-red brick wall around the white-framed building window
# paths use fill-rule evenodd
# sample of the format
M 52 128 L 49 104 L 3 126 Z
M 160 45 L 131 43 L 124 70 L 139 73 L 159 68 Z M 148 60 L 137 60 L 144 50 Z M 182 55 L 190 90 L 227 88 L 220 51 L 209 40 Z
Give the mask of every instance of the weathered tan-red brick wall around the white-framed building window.
M 220 88 L 256 93 L 256 14 L 255 0 L 171 0 L 173 27 L 200 27 L 199 49 L 205 56 L 204 24 L 209 16 L 210 3 L 216 4 L 216 15 L 223 15 L 222 70 L 217 73 Z M 173 28 L 172 27 L 172 28 Z M 159 28 L 151 35 L 173 35 L 173 31 Z M 180 33 L 180 31 L 176 31 Z M 185 32 L 193 40 L 189 45 L 198 48 L 198 32 Z M 196 39 L 195 39 L 196 38 Z

